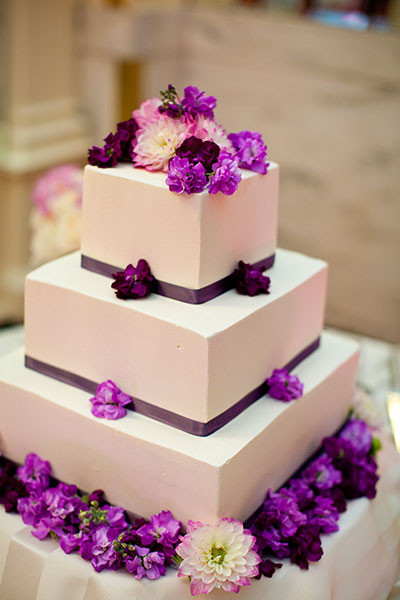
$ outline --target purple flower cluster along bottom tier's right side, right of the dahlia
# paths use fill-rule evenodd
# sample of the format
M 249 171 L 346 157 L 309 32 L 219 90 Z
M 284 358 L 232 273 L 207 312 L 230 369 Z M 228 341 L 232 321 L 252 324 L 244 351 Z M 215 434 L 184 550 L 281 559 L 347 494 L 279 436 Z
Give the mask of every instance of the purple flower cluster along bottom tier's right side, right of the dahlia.
M 321 558 L 321 535 L 338 530 L 347 500 L 376 494 L 373 448 L 368 426 L 350 419 L 338 435 L 325 438 L 322 451 L 285 487 L 268 492 L 251 526 L 265 561 L 289 558 L 308 569 L 309 562 Z M 271 569 L 267 562 L 267 577 Z M 260 572 L 264 574 L 262 566 Z

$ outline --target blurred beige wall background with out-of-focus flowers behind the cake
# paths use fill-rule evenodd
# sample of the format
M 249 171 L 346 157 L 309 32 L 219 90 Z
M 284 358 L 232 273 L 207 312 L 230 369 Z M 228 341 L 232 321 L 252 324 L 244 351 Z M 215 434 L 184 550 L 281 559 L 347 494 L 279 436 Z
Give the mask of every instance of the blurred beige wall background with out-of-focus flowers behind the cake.
M 79 246 L 87 148 L 171 82 L 263 134 L 279 245 L 329 262 L 328 325 L 399 342 L 399 0 L 2 0 L 0 64 L 0 325 Z

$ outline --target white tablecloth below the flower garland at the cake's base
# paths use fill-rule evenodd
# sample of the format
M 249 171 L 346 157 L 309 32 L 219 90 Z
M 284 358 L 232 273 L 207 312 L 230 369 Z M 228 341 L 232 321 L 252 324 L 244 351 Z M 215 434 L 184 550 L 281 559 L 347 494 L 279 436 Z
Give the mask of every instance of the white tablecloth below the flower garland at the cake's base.
M 252 581 L 242 600 L 386 600 L 400 562 L 400 459 L 390 442 L 379 453 L 378 494 L 353 500 L 339 531 L 323 537 L 324 556 L 308 571 L 286 561 L 272 579 Z M 231 597 L 223 591 L 210 600 Z M 3 600 L 189 600 L 187 581 L 170 570 L 157 581 L 96 573 L 54 540 L 39 541 L 19 515 L 0 507 L 0 598 Z

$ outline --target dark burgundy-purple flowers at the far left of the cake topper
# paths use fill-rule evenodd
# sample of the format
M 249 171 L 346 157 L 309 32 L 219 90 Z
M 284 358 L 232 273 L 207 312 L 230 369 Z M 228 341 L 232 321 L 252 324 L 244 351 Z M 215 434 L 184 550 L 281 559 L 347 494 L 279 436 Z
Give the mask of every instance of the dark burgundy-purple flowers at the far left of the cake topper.
M 117 131 L 104 138 L 103 147 L 93 146 L 89 149 L 88 163 L 105 169 L 115 167 L 119 160 L 132 161 L 137 130 L 138 124 L 133 118 L 118 123 Z

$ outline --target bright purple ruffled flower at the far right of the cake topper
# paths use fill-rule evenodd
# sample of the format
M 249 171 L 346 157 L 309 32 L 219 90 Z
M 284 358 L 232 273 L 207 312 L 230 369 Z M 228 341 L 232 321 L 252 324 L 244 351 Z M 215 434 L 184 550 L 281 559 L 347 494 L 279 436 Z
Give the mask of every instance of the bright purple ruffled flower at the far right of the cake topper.
M 250 169 L 256 173 L 265 175 L 269 163 L 266 162 L 267 146 L 264 144 L 261 134 L 257 131 L 241 131 L 230 133 L 228 139 L 232 142 L 242 169 Z

